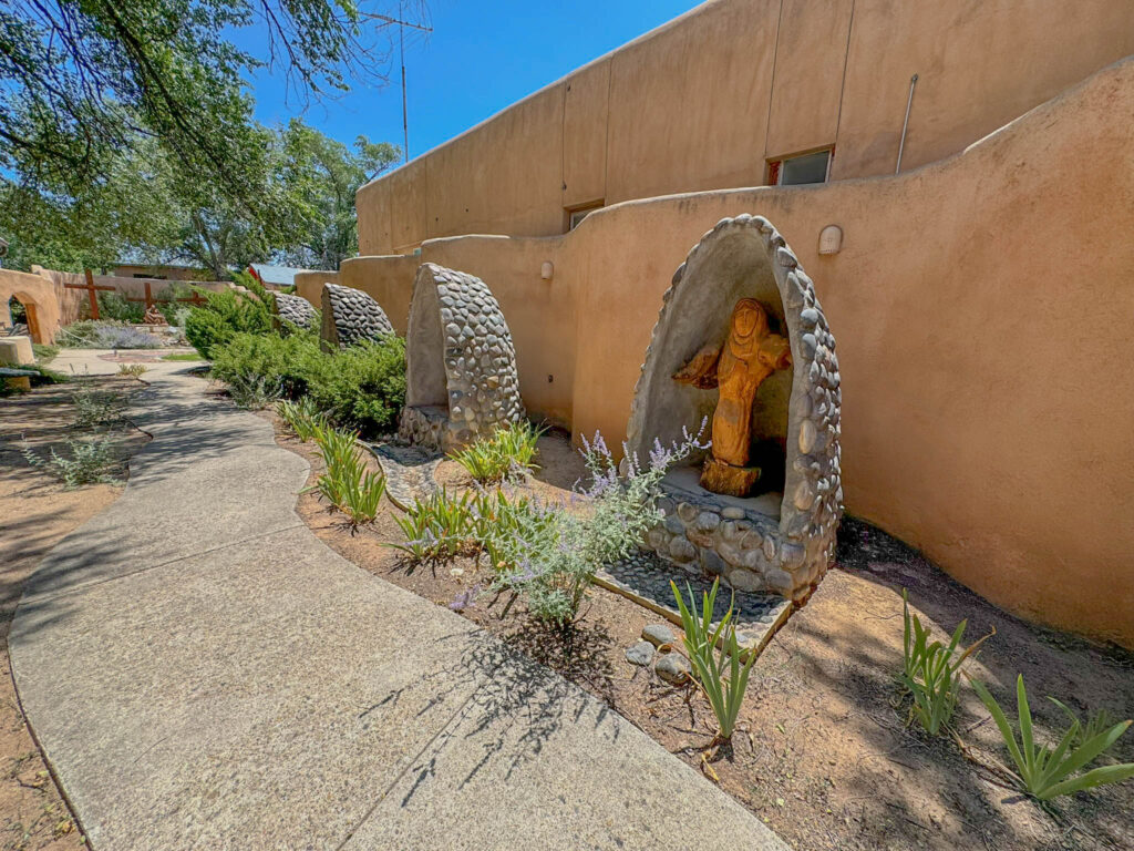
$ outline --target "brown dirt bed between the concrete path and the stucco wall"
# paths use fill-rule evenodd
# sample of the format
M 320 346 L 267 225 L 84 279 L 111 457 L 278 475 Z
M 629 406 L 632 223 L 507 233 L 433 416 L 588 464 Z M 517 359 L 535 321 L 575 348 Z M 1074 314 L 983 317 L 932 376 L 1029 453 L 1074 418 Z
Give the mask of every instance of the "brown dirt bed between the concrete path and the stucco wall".
M 313 482 L 321 469 L 313 445 L 278 439 L 311 461 Z M 544 497 L 562 495 L 579 474 L 577 461 L 556 447 L 541 446 L 541 455 L 544 481 L 533 489 Z M 450 489 L 462 481 L 451 462 L 442 463 L 435 478 Z M 390 513 L 352 534 L 314 494 L 303 495 L 298 509 L 342 556 L 438 605 L 485 578 L 468 558 L 407 567 L 382 546 L 400 540 Z M 968 671 L 1009 713 L 1022 672 L 1040 735 L 1050 740 L 1064 726 L 1064 716 L 1043 696 L 1059 698 L 1081 716 L 1100 707 L 1112 716 L 1131 715 L 1134 656 L 1023 623 L 853 519 L 840 531 L 837 566 L 756 663 L 741 732 L 726 750 L 706 750 L 714 722 L 702 696 L 670 688 L 626 660 L 641 630 L 659 620 L 629 600 L 592 589 L 568 633 L 532 623 L 522 604 L 505 613 L 507 599 L 482 597 L 463 614 L 617 709 L 794 848 L 1134 848 L 1134 782 L 1041 810 L 1006 784 L 998 765 L 1007 753 L 971 690 L 955 716 L 967 756 L 949 736 L 933 740 L 906 726 L 894 685 L 902 665 L 903 588 L 912 609 L 942 638 L 963 618 L 968 618 L 966 644 L 996 629 Z M 1134 761 L 1134 734 L 1119 740 L 1110 758 Z

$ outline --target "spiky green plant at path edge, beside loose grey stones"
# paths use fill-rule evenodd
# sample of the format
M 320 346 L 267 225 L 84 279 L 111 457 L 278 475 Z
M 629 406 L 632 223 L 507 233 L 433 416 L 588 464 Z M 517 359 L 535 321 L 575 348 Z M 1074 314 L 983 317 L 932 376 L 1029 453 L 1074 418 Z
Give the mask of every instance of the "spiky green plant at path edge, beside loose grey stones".
M 709 699 L 713 714 L 717 716 L 718 733 L 716 741 L 727 742 L 733 738 L 736 719 L 744 703 L 744 692 L 748 688 L 748 674 L 756 660 L 754 652 L 741 662 L 741 646 L 736 640 L 736 626 L 733 624 L 733 606 L 717 629 L 712 627 L 712 616 L 720 580 L 714 580 L 712 590 L 702 593 L 701 610 L 696 608 L 696 597 L 687 584 L 689 601 L 685 603 L 674 582 L 669 583 L 682 614 L 682 629 L 685 631 L 683 642 L 693 666 L 697 684 Z M 718 650 L 719 646 L 719 650 Z

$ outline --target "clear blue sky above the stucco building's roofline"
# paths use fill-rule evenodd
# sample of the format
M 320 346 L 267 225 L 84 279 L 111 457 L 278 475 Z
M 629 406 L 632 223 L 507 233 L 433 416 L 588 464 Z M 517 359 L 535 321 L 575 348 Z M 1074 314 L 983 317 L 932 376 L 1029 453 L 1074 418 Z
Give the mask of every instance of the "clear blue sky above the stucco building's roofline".
M 433 33 L 406 31 L 409 153 L 416 157 L 526 94 L 697 6 L 696 0 L 429 0 Z M 407 3 L 409 6 L 409 3 Z M 379 10 L 380 5 L 367 5 Z M 397 10 L 387 1 L 382 11 Z M 407 15 L 408 17 L 408 15 Z M 396 36 L 396 33 L 395 33 Z M 239 41 L 254 44 L 246 31 Z M 389 84 L 356 82 L 336 100 L 288 103 L 282 81 L 253 81 L 256 118 L 279 124 L 302 113 L 346 143 L 358 134 L 401 144 L 397 53 Z

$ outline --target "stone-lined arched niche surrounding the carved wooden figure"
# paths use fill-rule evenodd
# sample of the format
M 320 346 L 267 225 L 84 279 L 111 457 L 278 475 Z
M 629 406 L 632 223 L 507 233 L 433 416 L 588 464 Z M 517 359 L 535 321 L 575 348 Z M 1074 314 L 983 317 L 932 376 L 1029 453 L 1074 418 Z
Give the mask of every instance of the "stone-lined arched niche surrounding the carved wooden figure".
M 712 494 L 700 487 L 702 458 L 693 458 L 666 478 L 665 523 L 646 544 L 687 570 L 802 603 L 835 554 L 843 394 L 835 337 L 815 288 L 763 217 L 721 220 L 678 267 L 635 387 L 627 447 L 644 458 L 655 437 L 668 444 L 683 428 L 696 432 L 704 418 L 711 422 L 718 390 L 672 376 L 706 339 L 725 338 L 741 298 L 759 301 L 771 330 L 790 342 L 792 365 L 760 386 L 753 406 L 753 447 L 770 481 L 745 498 Z

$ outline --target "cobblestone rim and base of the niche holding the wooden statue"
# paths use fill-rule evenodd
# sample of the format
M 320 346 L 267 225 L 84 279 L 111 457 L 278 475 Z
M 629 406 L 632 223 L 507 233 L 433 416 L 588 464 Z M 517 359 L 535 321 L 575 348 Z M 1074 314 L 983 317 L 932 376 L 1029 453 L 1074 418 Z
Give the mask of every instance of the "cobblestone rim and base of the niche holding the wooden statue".
M 675 497 L 663 505 L 667 522 L 648 542 L 663 555 L 688 555 L 710 548 L 702 566 L 723 573 L 734 585 L 765 589 L 803 601 L 827 572 L 835 555 L 835 537 L 843 513 L 840 405 L 843 391 L 835 337 L 815 287 L 780 233 L 761 216 L 722 219 L 689 251 L 674 273 L 646 348 L 642 374 L 634 388 L 627 447 L 644 454 L 655 435 L 648 433 L 657 412 L 651 404 L 669 381 L 675 353 L 666 351 L 693 300 L 712 296 L 716 280 L 702 275 L 710 259 L 737 251 L 759 273 L 763 286 L 779 295 L 782 321 L 790 340 L 793 368 L 787 412 L 786 472 L 780 519 L 761 517 L 736 506 L 716 512 Z M 738 260 L 738 262 L 741 262 Z M 714 297 L 714 296 L 712 296 Z M 677 352 L 682 357 L 688 353 Z M 686 415 L 688 412 L 686 412 Z M 696 422 L 677 423 L 696 428 Z M 666 436 L 662 436 L 663 439 Z M 682 529 L 679 530 L 678 526 Z M 684 540 L 677 541 L 680 538 Z M 692 546 L 691 546 L 692 544 Z M 688 561 L 688 559 L 686 559 Z M 709 564 L 706 564 L 709 562 Z M 711 565 L 717 565 L 712 567 Z

